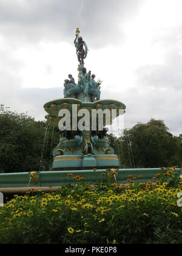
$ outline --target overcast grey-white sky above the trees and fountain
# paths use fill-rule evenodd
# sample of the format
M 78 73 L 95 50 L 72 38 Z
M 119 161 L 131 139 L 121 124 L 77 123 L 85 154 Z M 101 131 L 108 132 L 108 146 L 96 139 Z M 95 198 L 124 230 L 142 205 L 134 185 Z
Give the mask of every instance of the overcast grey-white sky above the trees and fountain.
M 103 99 L 126 104 L 125 127 L 163 119 L 182 133 L 181 0 L 0 0 L 0 104 L 44 120 L 78 76 L 79 26 L 87 70 Z M 77 80 L 77 79 L 76 79 Z

